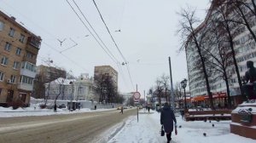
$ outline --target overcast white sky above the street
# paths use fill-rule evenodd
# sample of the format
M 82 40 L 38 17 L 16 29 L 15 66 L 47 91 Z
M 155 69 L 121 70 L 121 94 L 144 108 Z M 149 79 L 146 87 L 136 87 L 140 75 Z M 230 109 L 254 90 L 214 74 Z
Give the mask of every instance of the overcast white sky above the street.
M 55 66 L 61 66 L 67 72 L 71 70 L 74 76 L 89 73 L 90 77 L 93 76 L 94 66 L 113 66 L 119 72 L 119 91 L 134 91 L 137 84 L 141 94 L 143 90 L 147 92 L 154 86 L 157 77 L 163 73 L 169 75 L 169 56 L 172 58 L 173 83 L 188 77 L 185 54 L 177 54 L 180 47 L 176 33 L 179 20 L 177 12 L 190 5 L 198 9 L 198 16 L 203 19 L 209 7 L 208 0 L 95 1 L 128 61 L 131 80 L 126 66 L 118 68 L 96 43 L 66 0 L 1 0 L 0 9 L 5 14 L 15 16 L 16 21 L 22 22 L 28 30 L 42 37 L 37 65 L 45 65 L 45 60 L 49 58 Z M 72 0 L 69 2 L 76 8 Z M 93 1 L 75 2 L 114 57 L 122 63 L 124 60 L 108 35 Z M 79 13 L 78 9 L 76 11 Z M 85 20 L 84 23 L 89 26 Z M 65 38 L 62 45 L 57 40 Z M 78 45 L 68 49 L 75 43 Z M 60 51 L 63 52 L 60 54 Z

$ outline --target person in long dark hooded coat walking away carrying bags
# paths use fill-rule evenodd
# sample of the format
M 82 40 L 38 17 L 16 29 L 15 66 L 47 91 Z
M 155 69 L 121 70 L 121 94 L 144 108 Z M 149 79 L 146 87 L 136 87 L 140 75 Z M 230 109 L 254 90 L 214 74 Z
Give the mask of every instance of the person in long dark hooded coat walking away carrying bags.
M 173 131 L 173 122 L 175 123 L 175 127 L 177 126 L 176 117 L 167 103 L 165 103 L 163 109 L 161 110 L 160 114 L 160 123 L 164 126 L 164 130 L 166 132 L 167 143 L 169 143 L 172 138 L 172 131 Z

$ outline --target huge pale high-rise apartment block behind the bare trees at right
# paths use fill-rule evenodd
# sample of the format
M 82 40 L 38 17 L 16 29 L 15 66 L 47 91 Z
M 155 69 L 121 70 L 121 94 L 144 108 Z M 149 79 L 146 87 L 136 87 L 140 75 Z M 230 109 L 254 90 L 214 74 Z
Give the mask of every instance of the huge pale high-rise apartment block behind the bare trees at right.
M 212 1 L 212 6 L 208 11 L 206 19 L 203 21 L 203 23 L 201 23 L 200 26 L 198 26 L 195 29 L 197 37 L 201 37 L 201 31 L 206 29 L 204 27 L 207 26 L 206 25 L 207 21 L 209 20 L 214 21 L 220 17 L 220 15 L 216 13 L 216 9 L 218 9 L 219 2 L 220 1 L 217 1 L 217 0 Z M 250 2 L 248 1 L 248 3 Z M 232 12 L 234 13 L 232 8 L 224 9 L 224 11 L 226 11 L 226 14 L 234 16 L 234 14 L 230 14 Z M 253 14 L 246 14 L 246 16 L 248 16 L 247 19 L 249 20 L 250 26 L 255 33 L 256 32 L 255 16 Z M 233 19 L 235 18 L 237 20 L 239 19 L 238 16 L 232 17 L 232 18 Z M 239 66 L 240 77 L 242 78 L 245 72 L 247 71 L 247 66 L 246 66 L 247 60 L 252 60 L 254 63 L 256 62 L 256 44 L 255 44 L 255 41 L 252 40 L 251 35 L 247 30 L 246 26 L 233 27 L 231 29 L 231 32 L 233 33 L 233 43 L 234 43 L 234 49 L 236 52 L 236 61 L 237 61 L 237 65 Z M 211 36 L 208 36 L 208 37 L 211 37 Z M 225 43 L 223 43 L 222 46 L 225 46 L 224 44 Z M 211 49 L 212 53 L 218 52 L 217 50 L 218 50 L 217 47 Z M 188 72 L 189 72 L 189 89 L 191 92 L 191 96 L 195 97 L 195 99 L 196 97 L 201 96 L 201 98 L 198 98 L 198 99 L 204 100 L 202 96 L 205 95 L 205 100 L 207 100 L 208 97 L 207 97 L 205 77 L 204 77 L 204 74 L 201 72 L 201 67 L 198 66 L 200 65 L 201 61 L 198 60 L 199 54 L 195 48 L 194 43 L 188 43 L 186 45 L 186 57 L 187 57 L 187 66 L 188 66 Z M 241 92 L 239 89 L 239 84 L 238 84 L 234 65 L 230 65 L 227 71 L 230 74 L 230 79 L 229 79 L 230 95 L 233 97 L 236 95 L 240 95 Z M 207 72 L 209 73 L 209 71 Z M 217 78 L 217 77 L 221 77 L 221 75 L 219 72 L 216 72 L 216 73 L 217 74 L 213 73 L 211 77 L 209 77 L 213 98 L 215 97 L 226 98 L 226 85 L 224 83 L 224 80 Z

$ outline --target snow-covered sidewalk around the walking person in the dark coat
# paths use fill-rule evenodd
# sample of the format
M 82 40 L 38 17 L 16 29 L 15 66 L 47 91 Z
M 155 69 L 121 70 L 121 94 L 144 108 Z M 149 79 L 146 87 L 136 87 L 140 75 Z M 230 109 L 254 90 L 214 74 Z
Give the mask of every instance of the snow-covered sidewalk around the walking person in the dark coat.
M 125 112 L 124 112 L 125 114 Z M 214 127 L 212 127 L 214 124 Z M 179 128 L 181 126 L 181 128 Z M 172 132 L 172 143 L 255 143 L 256 140 L 248 139 L 230 133 L 230 121 L 194 121 L 184 122 L 177 115 L 177 135 Z M 113 130 L 112 130 L 113 131 Z M 160 136 L 160 113 L 151 111 L 139 112 L 137 116 L 130 117 L 123 128 L 116 128 L 117 132 L 108 143 L 162 143 L 166 136 Z M 109 133 L 109 132 L 108 132 Z M 207 136 L 203 134 L 206 133 Z

